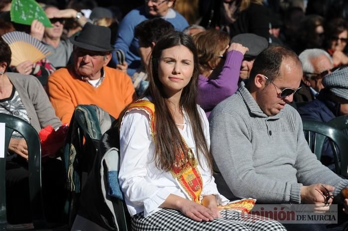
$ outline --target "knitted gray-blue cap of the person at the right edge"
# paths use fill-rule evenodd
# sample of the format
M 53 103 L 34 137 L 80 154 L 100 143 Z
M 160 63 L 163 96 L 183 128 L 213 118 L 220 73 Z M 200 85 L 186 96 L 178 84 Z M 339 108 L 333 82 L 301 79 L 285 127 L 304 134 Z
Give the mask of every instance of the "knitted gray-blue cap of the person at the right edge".
M 348 100 L 348 67 L 326 75 L 323 78 L 323 85 L 334 95 Z

